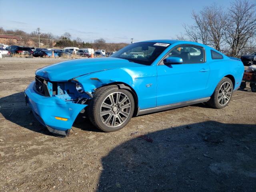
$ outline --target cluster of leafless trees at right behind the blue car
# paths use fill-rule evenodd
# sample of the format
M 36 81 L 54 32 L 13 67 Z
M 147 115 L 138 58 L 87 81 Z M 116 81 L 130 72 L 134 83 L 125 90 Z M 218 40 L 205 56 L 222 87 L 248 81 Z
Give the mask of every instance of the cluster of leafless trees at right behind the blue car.
M 238 57 L 256 50 L 256 5 L 248 0 L 235 0 L 225 9 L 218 4 L 192 12 L 192 25 L 184 24 L 185 36 L 228 56 Z

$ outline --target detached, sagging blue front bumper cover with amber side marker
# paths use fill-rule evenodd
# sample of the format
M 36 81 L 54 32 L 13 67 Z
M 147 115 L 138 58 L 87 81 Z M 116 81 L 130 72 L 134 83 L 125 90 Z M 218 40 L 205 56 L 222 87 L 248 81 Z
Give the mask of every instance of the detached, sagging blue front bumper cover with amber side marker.
M 34 90 L 33 81 L 25 90 L 26 103 L 32 108 L 36 119 L 55 134 L 66 136 L 79 112 L 87 105 L 65 102 L 55 96 L 45 97 Z M 55 117 L 66 118 L 66 121 Z

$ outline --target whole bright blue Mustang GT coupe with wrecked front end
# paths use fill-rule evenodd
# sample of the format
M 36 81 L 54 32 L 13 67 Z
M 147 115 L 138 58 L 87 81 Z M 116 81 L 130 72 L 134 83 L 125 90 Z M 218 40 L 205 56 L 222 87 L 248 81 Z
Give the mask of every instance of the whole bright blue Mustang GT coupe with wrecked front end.
M 179 40 L 130 44 L 108 58 L 60 62 L 36 71 L 25 90 L 34 116 L 68 135 L 79 113 L 105 132 L 132 116 L 207 102 L 224 108 L 244 66 L 206 45 Z

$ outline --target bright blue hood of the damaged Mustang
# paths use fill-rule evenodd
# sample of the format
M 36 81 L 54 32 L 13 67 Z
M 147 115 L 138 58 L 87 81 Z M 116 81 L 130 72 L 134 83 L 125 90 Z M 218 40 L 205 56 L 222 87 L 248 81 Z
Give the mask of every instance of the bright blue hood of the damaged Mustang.
M 114 68 L 144 66 L 119 58 L 86 58 L 69 60 L 40 68 L 36 75 L 50 81 L 67 81 L 77 76 Z

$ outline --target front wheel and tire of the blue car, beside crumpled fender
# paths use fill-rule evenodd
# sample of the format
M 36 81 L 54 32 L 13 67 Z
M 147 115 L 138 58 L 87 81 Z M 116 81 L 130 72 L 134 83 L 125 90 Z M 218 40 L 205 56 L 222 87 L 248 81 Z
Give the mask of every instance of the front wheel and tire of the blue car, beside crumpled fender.
M 119 98 L 118 102 L 117 98 Z M 93 98 L 89 100 L 87 116 L 100 130 L 114 132 L 128 124 L 133 112 L 132 94 L 128 90 L 118 89 L 116 85 L 110 85 L 96 90 Z

